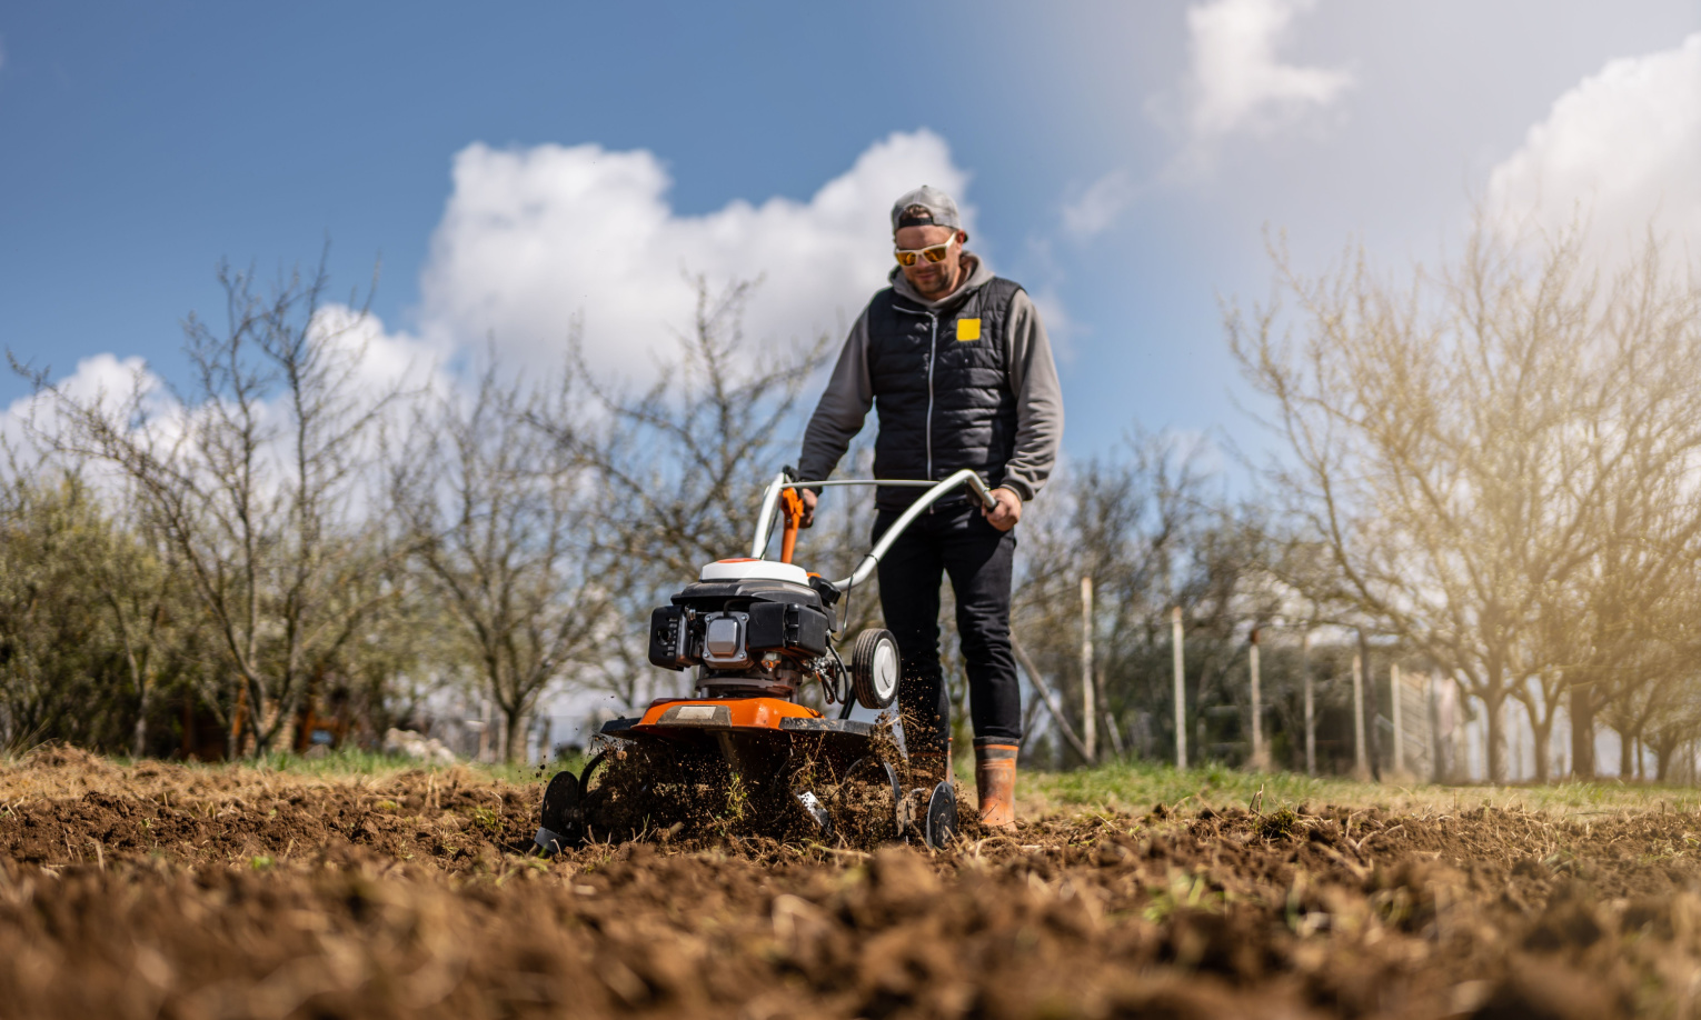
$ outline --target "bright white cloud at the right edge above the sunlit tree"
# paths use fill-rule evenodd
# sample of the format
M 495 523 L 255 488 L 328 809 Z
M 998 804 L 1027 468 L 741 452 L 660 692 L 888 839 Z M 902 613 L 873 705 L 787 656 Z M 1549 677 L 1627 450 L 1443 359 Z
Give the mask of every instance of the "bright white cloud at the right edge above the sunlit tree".
M 1614 60 L 1555 100 L 1488 177 L 1488 207 L 1563 228 L 1582 216 L 1602 245 L 1655 235 L 1701 255 L 1701 32 L 1675 49 Z

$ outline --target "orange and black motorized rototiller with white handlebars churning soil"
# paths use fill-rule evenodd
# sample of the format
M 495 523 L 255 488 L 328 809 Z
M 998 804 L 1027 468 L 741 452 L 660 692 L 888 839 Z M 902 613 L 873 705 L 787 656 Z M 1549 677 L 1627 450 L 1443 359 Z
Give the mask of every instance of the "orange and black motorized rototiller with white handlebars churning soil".
M 799 488 L 876 484 L 927 491 L 850 576 L 828 581 L 791 563 L 803 515 Z M 868 629 L 844 654 L 835 607 L 873 576 L 917 517 L 964 484 L 995 505 L 968 469 L 939 483 L 799 481 L 789 468 L 776 476 L 762 496 L 750 554 L 706 564 L 696 583 L 650 615 L 650 661 L 692 670 L 696 694 L 657 699 L 641 716 L 604 724 L 585 768 L 549 780 L 538 848 L 553 853 L 587 838 L 663 831 L 670 819 L 713 824 L 728 813 L 776 836 L 801 828 L 825 840 L 946 845 L 958 830 L 949 779 L 907 784 L 902 722 L 893 712 L 879 722 L 850 719 L 857 704 L 891 707 L 898 644 L 890 631 Z M 782 520 L 781 552 L 767 559 L 776 518 Z M 828 706 L 839 706 L 835 717 L 796 700 L 811 683 Z

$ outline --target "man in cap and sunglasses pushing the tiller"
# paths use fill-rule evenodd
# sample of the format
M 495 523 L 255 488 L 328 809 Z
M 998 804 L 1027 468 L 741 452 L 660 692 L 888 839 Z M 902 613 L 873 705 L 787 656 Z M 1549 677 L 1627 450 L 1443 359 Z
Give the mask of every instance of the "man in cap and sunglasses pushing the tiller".
M 1015 753 L 1022 700 L 1010 654 L 1010 563 L 1022 503 L 1056 461 L 1063 398 L 1039 313 L 1014 282 L 992 275 L 963 245 L 956 202 L 920 187 L 891 207 L 898 269 L 845 340 L 803 435 L 803 478 L 827 478 L 879 415 L 874 476 L 937 481 L 973 468 L 995 508 L 964 490 L 922 515 L 879 563 L 879 604 L 898 639 L 898 707 L 910 760 L 946 779 L 951 706 L 939 666 L 939 581 L 951 576 L 975 724 L 981 819 L 1015 824 Z M 874 541 L 924 490 L 881 486 Z M 803 527 L 818 491 L 805 491 Z

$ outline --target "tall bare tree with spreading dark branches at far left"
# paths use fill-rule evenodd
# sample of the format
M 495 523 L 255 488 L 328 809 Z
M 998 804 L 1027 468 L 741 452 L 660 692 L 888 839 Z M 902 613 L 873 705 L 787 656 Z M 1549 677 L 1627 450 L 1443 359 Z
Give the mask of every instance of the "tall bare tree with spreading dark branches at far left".
M 54 416 L 41 435 L 114 468 L 184 570 L 233 680 L 208 704 L 226 721 L 238 712 L 264 753 L 308 678 L 390 597 L 356 595 L 354 581 L 378 566 L 378 522 L 362 500 L 396 389 L 374 394 L 359 377 L 366 313 L 327 306 L 323 260 L 267 291 L 252 272 L 221 267 L 218 277 L 226 325 L 185 321 L 185 396 L 160 393 L 141 371 L 128 393 L 92 398 L 46 372 L 34 381 Z

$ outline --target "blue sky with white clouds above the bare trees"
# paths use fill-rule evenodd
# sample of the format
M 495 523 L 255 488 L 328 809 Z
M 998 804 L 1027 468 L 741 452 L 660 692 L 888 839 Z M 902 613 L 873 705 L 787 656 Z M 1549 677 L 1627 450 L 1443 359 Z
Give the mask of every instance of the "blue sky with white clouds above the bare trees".
M 330 238 L 342 287 L 383 258 L 403 348 L 544 364 L 582 313 L 641 372 L 682 265 L 765 274 L 759 333 L 837 330 L 930 173 L 1051 316 L 1072 456 L 1136 422 L 1257 445 L 1218 303 L 1267 292 L 1267 228 L 1400 267 L 1475 201 L 1580 201 L 1701 252 L 1696 32 L 1696 0 L 9 5 L 0 345 L 172 377 L 219 258 Z

